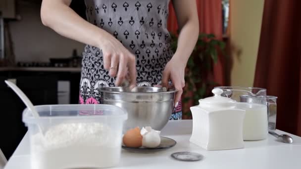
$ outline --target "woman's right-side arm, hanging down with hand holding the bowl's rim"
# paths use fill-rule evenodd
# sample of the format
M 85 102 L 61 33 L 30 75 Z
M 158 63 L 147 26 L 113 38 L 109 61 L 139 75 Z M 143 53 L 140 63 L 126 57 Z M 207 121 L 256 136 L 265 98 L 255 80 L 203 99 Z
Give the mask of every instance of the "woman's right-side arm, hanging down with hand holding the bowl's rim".
M 180 34 L 177 50 L 166 64 L 162 85 L 167 86 L 170 79 L 178 91 L 175 106 L 181 98 L 185 85 L 185 67 L 199 36 L 199 18 L 196 0 L 172 0 L 175 8 Z

